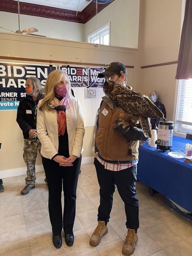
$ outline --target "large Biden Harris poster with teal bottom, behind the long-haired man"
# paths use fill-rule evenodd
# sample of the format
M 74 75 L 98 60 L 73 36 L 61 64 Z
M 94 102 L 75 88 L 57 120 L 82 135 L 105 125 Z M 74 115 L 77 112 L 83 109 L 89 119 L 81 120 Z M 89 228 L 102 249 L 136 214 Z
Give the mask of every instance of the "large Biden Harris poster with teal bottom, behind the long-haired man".
M 19 102 L 26 96 L 25 82 L 36 76 L 42 86 L 56 66 L 24 63 L 0 63 L 0 110 L 17 110 Z

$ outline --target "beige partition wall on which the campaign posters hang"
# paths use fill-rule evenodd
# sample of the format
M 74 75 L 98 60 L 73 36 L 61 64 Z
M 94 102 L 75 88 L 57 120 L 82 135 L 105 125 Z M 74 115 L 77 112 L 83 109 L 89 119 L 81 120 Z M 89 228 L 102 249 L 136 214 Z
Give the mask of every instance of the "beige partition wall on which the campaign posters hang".
M 49 64 L 49 59 L 86 63 L 110 63 L 112 61 L 123 62 L 127 66 L 137 63 L 137 49 L 129 49 L 113 46 L 94 47 L 93 44 L 80 43 L 51 38 L 33 37 L 30 35 L 18 35 L 0 33 L 0 56 L 12 56 L 17 58 L 47 59 L 47 63 L 25 61 L 25 63 Z M 4 59 L 0 59 L 4 62 Z M 11 60 L 6 60 L 9 62 Z M 14 62 L 14 61 L 11 61 Z M 22 62 L 22 61 L 15 61 Z M 54 65 L 54 61 L 52 62 Z M 58 64 L 56 64 L 58 65 Z M 137 67 L 128 69 L 128 83 L 136 89 Z M 83 99 L 82 99 L 83 101 Z M 81 102 L 83 105 L 84 102 Z M 97 108 L 96 108 L 97 110 Z M 0 111 L 1 130 L 0 142 L 0 177 L 9 177 L 24 174 L 26 172 L 23 161 L 23 136 L 16 122 L 17 111 Z M 82 163 L 93 162 L 95 126 L 85 127 L 84 152 Z M 42 171 L 40 156 L 37 160 L 38 170 Z

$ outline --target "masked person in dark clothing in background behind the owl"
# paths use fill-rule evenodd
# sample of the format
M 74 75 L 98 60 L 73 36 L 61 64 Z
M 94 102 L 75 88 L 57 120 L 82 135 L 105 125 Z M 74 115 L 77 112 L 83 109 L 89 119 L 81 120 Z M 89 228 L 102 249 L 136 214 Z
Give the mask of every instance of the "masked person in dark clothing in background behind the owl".
M 164 117 L 166 118 L 166 110 L 165 106 L 160 103 L 160 98 L 157 91 L 150 91 L 149 92 L 149 99 L 158 107 L 164 114 Z M 151 129 L 154 130 L 156 127 L 158 127 L 158 119 L 151 118 Z

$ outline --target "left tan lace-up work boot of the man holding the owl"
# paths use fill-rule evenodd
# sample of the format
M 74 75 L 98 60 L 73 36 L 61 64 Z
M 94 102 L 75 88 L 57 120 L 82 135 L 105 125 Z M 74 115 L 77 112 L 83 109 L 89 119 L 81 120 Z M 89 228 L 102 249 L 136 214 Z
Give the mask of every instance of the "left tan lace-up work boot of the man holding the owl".
M 94 230 L 89 244 L 91 246 L 97 246 L 101 242 L 102 236 L 106 235 L 108 232 L 107 224 L 105 225 L 105 221 L 98 221 L 98 226 Z

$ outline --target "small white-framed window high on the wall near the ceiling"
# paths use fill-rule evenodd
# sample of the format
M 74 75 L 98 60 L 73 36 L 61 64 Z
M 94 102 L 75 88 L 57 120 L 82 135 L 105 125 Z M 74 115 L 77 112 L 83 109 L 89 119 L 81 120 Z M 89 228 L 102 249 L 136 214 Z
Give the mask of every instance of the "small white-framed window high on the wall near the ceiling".
M 99 39 L 99 44 L 104 44 L 104 36 L 109 35 L 109 44 L 110 45 L 110 22 L 105 24 L 104 26 L 100 27 L 98 30 L 94 31 L 93 33 L 87 36 L 88 43 L 94 43 L 95 40 Z

